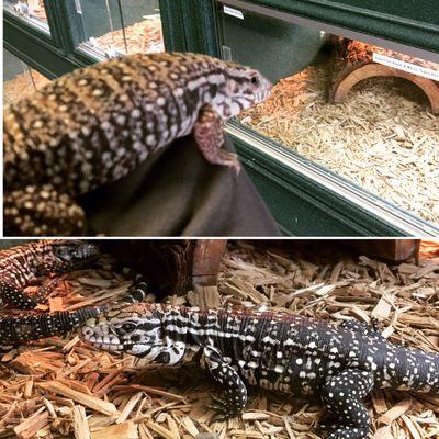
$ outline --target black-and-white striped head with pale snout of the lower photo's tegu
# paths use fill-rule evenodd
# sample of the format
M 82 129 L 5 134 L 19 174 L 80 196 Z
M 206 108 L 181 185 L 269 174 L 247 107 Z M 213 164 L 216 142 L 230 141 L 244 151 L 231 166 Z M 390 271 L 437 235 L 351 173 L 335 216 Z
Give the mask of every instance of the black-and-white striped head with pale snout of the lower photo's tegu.
M 159 305 L 117 304 L 87 320 L 79 329 L 82 340 L 99 349 L 125 352 L 149 362 L 175 364 L 184 353 L 184 344 L 165 333 L 165 313 Z

